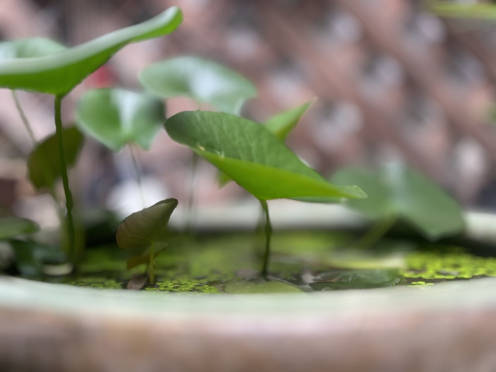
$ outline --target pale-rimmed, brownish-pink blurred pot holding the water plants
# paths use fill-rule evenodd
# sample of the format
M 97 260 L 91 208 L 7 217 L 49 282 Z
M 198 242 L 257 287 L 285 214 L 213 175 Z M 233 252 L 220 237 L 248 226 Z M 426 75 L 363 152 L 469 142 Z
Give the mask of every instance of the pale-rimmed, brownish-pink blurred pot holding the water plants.
M 300 222 L 330 219 L 319 213 Z M 492 239 L 492 216 L 468 221 L 469 236 Z M 496 278 L 429 288 L 164 295 L 1 277 L 0 370 L 493 371 L 495 293 Z

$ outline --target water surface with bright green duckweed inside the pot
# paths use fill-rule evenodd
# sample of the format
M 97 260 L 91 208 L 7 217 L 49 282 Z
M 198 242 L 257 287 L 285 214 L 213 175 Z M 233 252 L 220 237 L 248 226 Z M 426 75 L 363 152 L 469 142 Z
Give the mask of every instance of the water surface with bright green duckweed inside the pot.
M 165 293 L 286 293 L 338 291 L 496 276 L 496 257 L 478 257 L 463 247 L 387 240 L 373 249 L 349 249 L 344 232 L 278 232 L 269 277 L 259 274 L 252 235 L 177 235 L 155 262 L 156 283 L 145 291 Z M 77 274 L 43 281 L 91 288 L 126 288 L 145 265 L 126 269 L 128 251 L 115 246 L 87 249 Z

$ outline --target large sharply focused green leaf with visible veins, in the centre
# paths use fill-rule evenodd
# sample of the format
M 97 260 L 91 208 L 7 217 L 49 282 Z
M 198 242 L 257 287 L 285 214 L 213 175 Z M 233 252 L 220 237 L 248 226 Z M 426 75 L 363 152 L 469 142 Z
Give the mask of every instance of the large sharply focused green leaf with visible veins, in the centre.
M 239 116 L 186 111 L 169 118 L 165 128 L 260 200 L 366 197 L 358 187 L 329 184 L 264 126 Z

